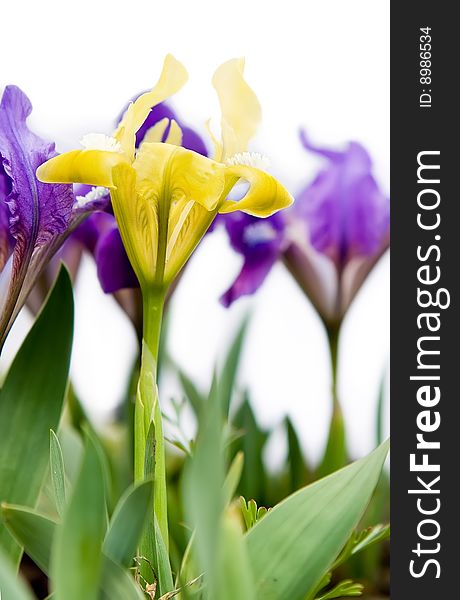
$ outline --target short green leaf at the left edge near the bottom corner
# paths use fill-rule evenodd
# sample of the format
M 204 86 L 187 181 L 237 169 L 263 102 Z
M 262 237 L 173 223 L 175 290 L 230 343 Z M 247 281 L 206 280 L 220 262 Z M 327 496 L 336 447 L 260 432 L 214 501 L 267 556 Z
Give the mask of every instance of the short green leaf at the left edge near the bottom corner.
M 3 504 L 2 516 L 14 538 L 48 575 L 57 523 L 32 509 L 10 504 Z

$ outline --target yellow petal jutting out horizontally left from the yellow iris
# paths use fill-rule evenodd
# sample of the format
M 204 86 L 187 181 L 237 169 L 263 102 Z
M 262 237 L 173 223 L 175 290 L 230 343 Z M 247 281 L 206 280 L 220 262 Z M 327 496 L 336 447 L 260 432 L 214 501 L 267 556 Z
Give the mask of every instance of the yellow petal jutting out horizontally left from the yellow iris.
M 37 178 L 45 183 L 87 183 L 112 187 L 112 169 L 126 163 L 119 152 L 73 150 L 51 158 L 37 169 Z

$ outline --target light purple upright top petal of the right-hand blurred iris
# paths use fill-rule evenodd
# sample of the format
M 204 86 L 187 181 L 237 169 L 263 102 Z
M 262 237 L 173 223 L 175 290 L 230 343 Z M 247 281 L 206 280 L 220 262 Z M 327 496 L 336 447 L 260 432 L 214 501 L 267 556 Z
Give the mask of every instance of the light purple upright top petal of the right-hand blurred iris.
M 342 266 L 354 256 L 372 256 L 388 235 L 390 205 L 372 176 L 369 154 L 356 142 L 336 152 L 313 146 L 304 132 L 301 139 L 329 161 L 294 208 L 308 224 L 311 244 Z

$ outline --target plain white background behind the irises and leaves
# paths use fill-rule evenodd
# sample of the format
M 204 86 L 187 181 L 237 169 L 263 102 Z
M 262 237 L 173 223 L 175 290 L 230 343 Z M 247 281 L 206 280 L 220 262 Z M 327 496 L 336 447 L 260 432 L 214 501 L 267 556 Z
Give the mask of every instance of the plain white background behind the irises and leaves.
M 320 162 L 302 150 L 298 128 L 318 144 L 362 142 L 389 191 L 389 3 L 382 0 L 18 1 L 2 7 L 0 87 L 31 98 L 37 133 L 63 151 L 88 132 L 110 133 L 126 101 L 152 86 L 164 55 L 185 63 L 190 82 L 174 99 L 204 132 L 219 111 L 210 79 L 224 60 L 246 57 L 247 79 L 264 111 L 254 150 L 295 193 Z M 205 134 L 204 134 L 205 135 Z M 330 373 L 321 325 L 296 284 L 277 266 L 254 298 L 223 309 L 218 296 L 240 260 L 223 233 L 193 257 L 174 299 L 170 350 L 205 385 L 241 316 L 253 320 L 240 385 L 249 386 L 260 420 L 289 413 L 312 459 L 324 444 Z M 377 390 L 389 350 L 388 257 L 375 269 L 346 321 L 340 347 L 340 396 L 355 456 L 375 443 Z M 72 376 L 96 416 L 124 390 L 136 343 L 130 324 L 84 262 L 76 289 Z M 15 327 L 9 355 L 28 319 Z M 5 359 L 7 360 L 7 358 Z M 176 388 L 168 383 L 168 398 Z M 275 455 L 281 455 L 274 442 Z

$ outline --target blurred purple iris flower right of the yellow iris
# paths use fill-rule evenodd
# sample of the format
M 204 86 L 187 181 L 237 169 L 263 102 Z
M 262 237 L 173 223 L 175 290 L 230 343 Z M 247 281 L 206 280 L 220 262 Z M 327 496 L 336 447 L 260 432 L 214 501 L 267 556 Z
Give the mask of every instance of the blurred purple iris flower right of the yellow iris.
M 301 190 L 292 208 L 260 220 L 276 235 L 256 246 L 257 236 L 246 231 L 259 219 L 239 214 L 239 219 L 226 219 L 231 245 L 244 263 L 221 301 L 228 306 L 255 292 L 281 258 L 323 320 L 337 323 L 388 248 L 390 204 L 363 146 L 350 142 L 341 152 L 318 148 L 304 132 L 301 141 L 306 150 L 324 158 L 326 166 Z

